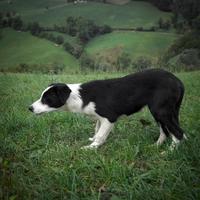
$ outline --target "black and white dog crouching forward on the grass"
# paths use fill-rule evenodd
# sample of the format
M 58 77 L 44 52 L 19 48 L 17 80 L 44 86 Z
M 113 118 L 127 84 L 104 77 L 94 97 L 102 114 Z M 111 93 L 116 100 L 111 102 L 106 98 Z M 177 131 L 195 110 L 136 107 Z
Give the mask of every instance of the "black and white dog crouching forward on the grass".
M 184 136 L 178 117 L 183 95 L 184 86 L 177 77 L 151 69 L 83 84 L 52 84 L 29 110 L 36 114 L 64 110 L 92 116 L 97 120 L 95 134 L 86 148 L 97 148 L 105 142 L 121 115 L 131 115 L 148 106 L 160 126 L 157 145 L 171 135 L 174 148 Z

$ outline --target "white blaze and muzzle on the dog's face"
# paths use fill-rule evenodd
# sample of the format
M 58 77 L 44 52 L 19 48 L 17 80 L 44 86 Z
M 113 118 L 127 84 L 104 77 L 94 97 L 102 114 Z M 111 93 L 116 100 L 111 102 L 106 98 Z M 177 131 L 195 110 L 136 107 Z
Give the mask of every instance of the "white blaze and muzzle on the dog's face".
M 41 101 L 41 100 L 42 100 L 43 94 L 44 94 L 47 90 L 49 90 L 51 87 L 53 87 L 53 86 L 50 86 L 50 87 L 46 88 L 46 89 L 42 92 L 40 99 L 38 99 L 37 101 L 35 101 L 35 102 L 31 105 L 31 106 L 33 107 L 33 112 L 34 112 L 35 114 L 42 114 L 42 113 L 45 113 L 45 112 L 51 112 L 51 111 L 57 110 L 56 108 L 51 108 L 51 107 L 49 107 L 48 105 L 43 104 L 42 101 Z

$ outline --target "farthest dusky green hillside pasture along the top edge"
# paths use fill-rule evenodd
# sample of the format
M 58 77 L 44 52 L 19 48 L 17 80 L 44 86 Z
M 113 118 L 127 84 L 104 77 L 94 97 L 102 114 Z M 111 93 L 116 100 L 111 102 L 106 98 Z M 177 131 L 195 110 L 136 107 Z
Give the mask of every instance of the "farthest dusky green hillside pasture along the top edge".
M 19 3 L 21 1 L 22 3 Z M 162 12 L 147 2 L 135 1 L 126 5 L 113 5 L 96 2 L 61 4 L 60 1 L 60 4 L 54 3 L 52 6 L 52 1 L 39 2 L 37 0 L 26 3 L 25 0 L 18 0 L 8 6 L 6 1 L 3 1 L 0 3 L 0 10 L 16 10 L 25 21 L 38 21 L 48 26 L 63 24 L 68 16 L 82 16 L 94 20 L 99 25 L 108 24 L 115 28 L 146 28 L 156 25 L 160 17 L 170 17 L 170 13 Z

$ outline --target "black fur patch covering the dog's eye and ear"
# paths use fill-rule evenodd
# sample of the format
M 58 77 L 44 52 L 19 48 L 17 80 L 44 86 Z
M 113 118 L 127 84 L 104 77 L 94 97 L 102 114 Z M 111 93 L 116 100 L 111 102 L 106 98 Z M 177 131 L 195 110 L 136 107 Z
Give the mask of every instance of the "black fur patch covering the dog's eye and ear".
M 54 83 L 42 96 L 42 103 L 52 108 L 59 108 L 66 103 L 71 90 L 63 83 Z

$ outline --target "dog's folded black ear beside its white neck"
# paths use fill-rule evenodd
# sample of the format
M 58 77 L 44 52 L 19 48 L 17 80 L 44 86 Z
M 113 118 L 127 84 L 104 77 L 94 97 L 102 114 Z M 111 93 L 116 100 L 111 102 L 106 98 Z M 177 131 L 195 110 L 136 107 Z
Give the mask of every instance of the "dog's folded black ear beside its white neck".
M 57 94 L 60 102 L 62 103 L 62 105 L 64 105 L 71 93 L 71 90 L 64 83 L 56 84 L 55 88 L 56 88 L 56 94 Z

